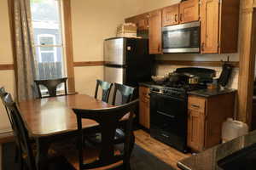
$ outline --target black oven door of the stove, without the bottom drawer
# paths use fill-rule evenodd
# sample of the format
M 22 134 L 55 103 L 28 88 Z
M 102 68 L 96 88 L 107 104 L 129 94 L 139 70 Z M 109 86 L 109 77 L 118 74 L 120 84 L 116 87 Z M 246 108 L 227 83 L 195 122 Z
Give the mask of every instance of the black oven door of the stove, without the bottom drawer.
M 185 98 L 151 93 L 150 126 L 183 137 L 187 132 L 187 108 Z

